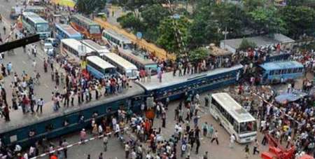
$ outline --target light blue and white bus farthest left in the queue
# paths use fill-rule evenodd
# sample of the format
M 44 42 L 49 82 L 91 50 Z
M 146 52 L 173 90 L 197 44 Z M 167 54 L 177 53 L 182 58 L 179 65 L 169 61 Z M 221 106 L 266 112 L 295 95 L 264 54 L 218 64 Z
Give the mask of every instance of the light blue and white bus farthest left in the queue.
M 22 13 L 22 25 L 30 34 L 39 34 L 41 39 L 50 37 L 50 27 L 48 22 L 36 13 Z

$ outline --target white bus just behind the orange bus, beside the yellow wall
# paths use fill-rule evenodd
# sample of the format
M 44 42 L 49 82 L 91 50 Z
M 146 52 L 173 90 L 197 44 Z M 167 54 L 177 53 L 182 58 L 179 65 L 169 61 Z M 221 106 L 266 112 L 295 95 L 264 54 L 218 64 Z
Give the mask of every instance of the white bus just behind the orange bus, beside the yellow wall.
M 104 29 L 102 33 L 102 39 L 111 46 L 117 46 L 118 48 L 123 48 L 130 50 L 132 49 L 132 41 L 127 37 L 113 32 L 109 29 Z

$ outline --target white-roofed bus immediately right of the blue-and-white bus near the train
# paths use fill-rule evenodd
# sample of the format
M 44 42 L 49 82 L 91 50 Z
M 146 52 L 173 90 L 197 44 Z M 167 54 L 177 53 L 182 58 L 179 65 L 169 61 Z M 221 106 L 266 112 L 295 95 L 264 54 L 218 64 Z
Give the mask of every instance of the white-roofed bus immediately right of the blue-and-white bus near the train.
M 137 78 L 137 67 L 123 57 L 120 57 L 116 53 L 103 53 L 101 57 L 106 60 L 106 62 L 116 66 L 120 74 L 125 74 L 129 78 Z

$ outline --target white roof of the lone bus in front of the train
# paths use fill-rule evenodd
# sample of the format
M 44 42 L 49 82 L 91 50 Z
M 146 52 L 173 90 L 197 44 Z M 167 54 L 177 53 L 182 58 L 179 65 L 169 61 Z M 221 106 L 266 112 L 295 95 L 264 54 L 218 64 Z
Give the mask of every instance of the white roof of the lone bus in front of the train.
M 223 109 L 228 111 L 230 115 L 237 120 L 238 123 L 253 121 L 255 118 L 251 116 L 238 102 L 235 101 L 228 93 L 220 92 L 212 94 Z

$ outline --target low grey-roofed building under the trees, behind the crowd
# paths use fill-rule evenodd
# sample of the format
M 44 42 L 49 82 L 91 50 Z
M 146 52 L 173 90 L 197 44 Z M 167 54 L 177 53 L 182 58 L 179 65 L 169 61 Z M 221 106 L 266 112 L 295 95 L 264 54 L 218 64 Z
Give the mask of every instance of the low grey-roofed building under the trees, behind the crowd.
M 274 34 L 274 37 L 269 36 L 254 36 L 246 38 L 248 41 L 254 42 L 257 47 L 267 47 L 276 45 L 278 43 L 281 44 L 281 48 L 291 48 L 294 44 L 294 40 L 290 39 L 288 36 L 283 34 Z M 220 47 L 223 49 L 227 49 L 232 53 L 236 53 L 237 49 L 241 45 L 241 41 L 243 39 L 228 39 L 220 41 Z

